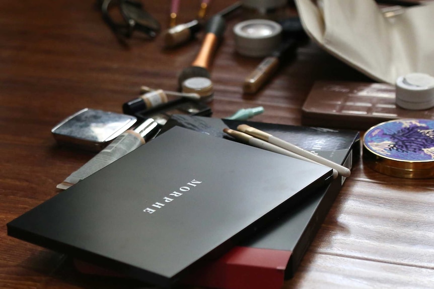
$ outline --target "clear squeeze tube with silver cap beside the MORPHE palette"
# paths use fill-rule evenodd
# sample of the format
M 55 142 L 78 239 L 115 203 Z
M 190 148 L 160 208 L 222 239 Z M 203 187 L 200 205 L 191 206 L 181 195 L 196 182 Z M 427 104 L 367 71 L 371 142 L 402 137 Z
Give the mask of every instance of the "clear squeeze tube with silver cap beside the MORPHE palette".
M 71 185 L 78 183 L 80 180 L 85 179 L 127 153 L 135 150 L 139 146 L 143 145 L 147 140 L 154 137 L 159 129 L 158 127 L 158 124 L 153 119 L 148 119 L 138 125 L 135 129 L 125 131 L 81 168 L 71 173 L 56 187 L 67 189 Z

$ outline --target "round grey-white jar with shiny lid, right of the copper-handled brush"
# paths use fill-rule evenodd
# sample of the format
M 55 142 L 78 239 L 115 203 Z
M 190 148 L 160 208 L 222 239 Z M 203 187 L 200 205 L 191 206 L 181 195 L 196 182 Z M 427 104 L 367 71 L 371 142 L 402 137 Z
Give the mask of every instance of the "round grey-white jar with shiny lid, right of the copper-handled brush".
M 281 25 L 271 20 L 252 19 L 240 22 L 234 26 L 235 48 L 244 56 L 268 56 L 280 44 L 281 32 Z

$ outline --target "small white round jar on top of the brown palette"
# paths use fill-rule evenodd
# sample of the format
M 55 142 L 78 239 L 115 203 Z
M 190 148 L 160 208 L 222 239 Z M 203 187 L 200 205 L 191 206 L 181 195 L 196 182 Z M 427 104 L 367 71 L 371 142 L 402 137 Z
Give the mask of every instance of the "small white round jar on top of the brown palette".
M 425 73 L 409 73 L 398 77 L 396 105 L 407 110 L 434 107 L 434 77 Z

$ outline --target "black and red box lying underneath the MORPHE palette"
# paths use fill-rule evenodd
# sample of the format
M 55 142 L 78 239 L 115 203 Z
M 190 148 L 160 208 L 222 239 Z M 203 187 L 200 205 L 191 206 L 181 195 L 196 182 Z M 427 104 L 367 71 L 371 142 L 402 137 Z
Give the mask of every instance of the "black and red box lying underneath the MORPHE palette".
M 270 133 L 348 168 L 360 157 L 360 136 L 351 130 L 175 115 L 160 133 L 182 126 L 227 138 L 223 129 L 235 130 L 240 124 Z M 339 176 L 330 185 L 319 188 L 317 194 L 191 274 L 186 282 L 222 289 L 280 289 L 283 281 L 296 272 L 344 181 L 345 177 Z

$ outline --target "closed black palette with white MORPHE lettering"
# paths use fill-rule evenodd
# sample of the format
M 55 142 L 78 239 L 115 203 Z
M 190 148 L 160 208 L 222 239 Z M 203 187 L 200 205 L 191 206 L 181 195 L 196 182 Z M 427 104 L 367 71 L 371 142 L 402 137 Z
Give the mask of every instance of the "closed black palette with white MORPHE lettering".
M 332 170 L 180 127 L 8 223 L 10 236 L 170 287 Z

